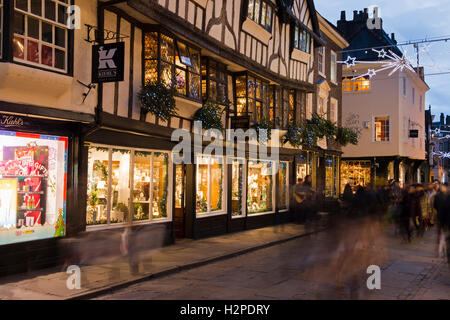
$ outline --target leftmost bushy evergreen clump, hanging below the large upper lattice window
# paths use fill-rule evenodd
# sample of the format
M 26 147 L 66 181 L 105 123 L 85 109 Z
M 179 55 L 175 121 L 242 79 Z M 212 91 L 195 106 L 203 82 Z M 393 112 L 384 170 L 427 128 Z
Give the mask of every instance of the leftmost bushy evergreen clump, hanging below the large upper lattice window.
M 167 87 L 160 79 L 155 82 L 147 82 L 138 92 L 138 98 L 144 113 L 150 112 L 157 118 L 169 120 L 177 115 L 175 104 L 175 87 Z

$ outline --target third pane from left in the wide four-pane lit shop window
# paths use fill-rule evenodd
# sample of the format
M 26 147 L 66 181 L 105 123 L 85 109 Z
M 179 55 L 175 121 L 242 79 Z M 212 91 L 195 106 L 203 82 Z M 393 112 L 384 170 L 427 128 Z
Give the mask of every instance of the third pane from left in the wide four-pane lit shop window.
M 152 153 L 135 151 L 133 183 L 133 220 L 149 218 Z

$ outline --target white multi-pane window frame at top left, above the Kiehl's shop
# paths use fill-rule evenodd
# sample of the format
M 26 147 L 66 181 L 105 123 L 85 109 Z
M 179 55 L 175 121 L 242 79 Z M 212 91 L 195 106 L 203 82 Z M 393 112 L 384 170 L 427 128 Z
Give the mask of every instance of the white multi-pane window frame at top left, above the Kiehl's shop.
M 27 11 L 24 11 L 20 8 L 16 8 L 16 1 L 15 0 L 11 0 L 11 6 L 12 6 L 12 12 L 13 12 L 13 17 L 11 17 L 10 19 L 12 21 L 10 24 L 10 28 L 11 30 L 11 34 L 12 34 L 12 39 L 11 39 L 11 43 L 9 44 L 11 46 L 11 61 L 17 63 L 17 64 L 22 64 L 22 65 L 26 65 L 26 66 L 30 66 L 30 67 L 35 67 L 35 68 L 39 68 L 39 69 L 43 69 L 43 70 L 47 70 L 47 71 L 51 71 L 51 72 L 56 72 L 56 73 L 60 73 L 60 74 L 67 74 L 67 75 L 71 75 L 72 72 L 72 59 L 73 59 L 73 30 L 70 30 L 67 27 L 67 8 L 72 5 L 73 0 L 68 0 L 67 3 L 65 3 L 64 1 L 61 0 L 48 0 L 52 3 L 54 3 L 54 8 L 55 8 L 55 19 L 51 20 L 49 18 L 46 17 L 45 14 L 45 7 L 46 7 L 46 0 L 42 0 L 41 2 L 41 15 L 37 15 L 32 13 L 31 11 L 31 1 L 27 0 Z M 65 7 L 66 9 L 64 10 L 64 18 L 65 23 L 61 23 L 59 22 L 59 6 Z M 15 21 L 17 19 L 18 15 L 23 15 L 23 34 L 20 33 L 16 33 L 15 31 L 15 26 L 17 21 Z M 28 21 L 30 19 L 34 19 L 38 21 L 38 32 L 39 32 L 39 36 L 38 39 L 28 35 Z M 52 41 L 51 42 L 47 42 L 43 39 L 43 24 L 47 24 L 51 26 L 51 30 L 52 30 Z M 64 47 L 61 47 L 59 45 L 56 44 L 56 28 L 62 29 L 64 30 L 64 40 L 65 40 L 65 44 Z M 16 39 L 20 39 L 23 41 L 23 58 L 17 57 L 14 54 L 14 47 L 15 47 L 15 41 Z M 38 58 L 38 62 L 35 61 L 31 61 L 29 60 L 29 55 L 28 55 L 28 46 L 29 43 L 33 42 L 33 43 L 37 43 L 38 45 L 38 54 L 39 54 L 39 58 Z M 42 62 L 42 55 L 43 55 L 43 50 L 42 47 L 48 47 L 51 48 L 51 61 L 52 61 L 52 66 L 49 66 L 48 64 L 45 64 Z M 64 69 L 58 68 L 56 67 L 56 50 L 59 50 L 60 52 L 64 53 Z

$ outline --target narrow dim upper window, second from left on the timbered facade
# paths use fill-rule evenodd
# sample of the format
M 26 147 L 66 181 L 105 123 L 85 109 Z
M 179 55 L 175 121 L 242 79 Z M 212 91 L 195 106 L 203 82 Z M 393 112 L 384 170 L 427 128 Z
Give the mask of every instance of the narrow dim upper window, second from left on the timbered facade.
M 228 101 L 227 66 L 202 57 L 202 98 L 226 105 Z

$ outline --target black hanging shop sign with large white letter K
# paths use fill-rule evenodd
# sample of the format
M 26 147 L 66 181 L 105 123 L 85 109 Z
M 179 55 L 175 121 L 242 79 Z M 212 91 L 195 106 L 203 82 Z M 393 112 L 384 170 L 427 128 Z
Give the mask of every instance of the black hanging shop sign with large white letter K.
M 92 46 L 92 83 L 123 81 L 125 42 Z

